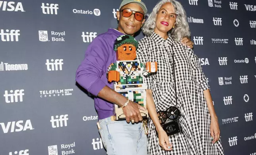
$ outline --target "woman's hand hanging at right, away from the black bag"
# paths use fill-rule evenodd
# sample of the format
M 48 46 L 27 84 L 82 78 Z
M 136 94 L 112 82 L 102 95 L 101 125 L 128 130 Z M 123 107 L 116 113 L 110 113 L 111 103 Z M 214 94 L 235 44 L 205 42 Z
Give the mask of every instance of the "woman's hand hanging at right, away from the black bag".
M 210 125 L 211 137 L 213 138 L 212 143 L 215 144 L 220 137 L 219 123 L 217 116 L 211 117 Z

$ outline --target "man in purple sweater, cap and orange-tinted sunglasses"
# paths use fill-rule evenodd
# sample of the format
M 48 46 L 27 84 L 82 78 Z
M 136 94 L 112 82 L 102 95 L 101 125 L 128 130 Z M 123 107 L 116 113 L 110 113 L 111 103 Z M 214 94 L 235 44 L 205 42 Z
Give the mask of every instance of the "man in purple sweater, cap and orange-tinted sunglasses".
M 147 155 L 147 136 L 139 111 L 146 109 L 112 90 L 106 77 L 109 65 L 116 62 L 114 41 L 123 34 L 134 36 L 145 21 L 145 13 L 147 8 L 141 0 L 123 0 L 116 13 L 118 28 L 109 28 L 94 38 L 76 72 L 76 81 L 96 96 L 99 132 L 108 155 Z M 114 121 L 113 104 L 125 106 L 126 121 Z

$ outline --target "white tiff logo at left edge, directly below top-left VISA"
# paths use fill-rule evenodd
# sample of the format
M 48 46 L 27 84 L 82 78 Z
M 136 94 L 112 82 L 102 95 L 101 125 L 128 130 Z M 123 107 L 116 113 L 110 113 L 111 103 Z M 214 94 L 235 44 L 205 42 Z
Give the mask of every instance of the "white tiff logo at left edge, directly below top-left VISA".
M 15 41 L 18 42 L 19 41 L 19 30 L 5 30 L 6 32 L 4 32 L 3 29 L 1 29 L 0 31 L 0 36 L 1 36 L 1 40 L 3 42 L 14 42 L 14 37 L 15 37 Z M 10 32 L 10 33 L 9 33 Z

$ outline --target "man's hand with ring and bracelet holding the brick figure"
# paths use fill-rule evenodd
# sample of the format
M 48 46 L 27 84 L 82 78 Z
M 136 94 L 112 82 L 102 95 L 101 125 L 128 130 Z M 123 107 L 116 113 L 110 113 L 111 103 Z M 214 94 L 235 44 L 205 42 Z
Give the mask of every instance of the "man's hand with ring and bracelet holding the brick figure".
M 140 114 L 139 109 L 146 111 L 146 109 L 143 106 L 140 106 L 140 104 L 129 101 L 127 106 L 123 108 L 127 123 L 130 123 L 130 120 L 134 120 L 136 123 L 142 121 L 142 115 Z

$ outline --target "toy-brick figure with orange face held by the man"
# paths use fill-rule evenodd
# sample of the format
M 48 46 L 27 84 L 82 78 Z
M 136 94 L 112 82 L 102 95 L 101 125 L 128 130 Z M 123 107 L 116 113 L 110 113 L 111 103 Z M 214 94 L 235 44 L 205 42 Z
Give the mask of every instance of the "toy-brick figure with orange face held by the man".
M 129 35 L 119 36 L 114 43 L 116 51 L 115 63 L 109 66 L 108 81 L 115 81 L 113 89 L 128 98 L 129 100 L 146 107 L 146 85 L 142 76 L 157 71 L 157 62 L 140 63 L 136 59 L 138 42 Z M 126 117 L 122 108 L 114 105 L 115 120 L 125 120 Z M 142 118 L 148 117 L 147 111 L 140 110 Z

